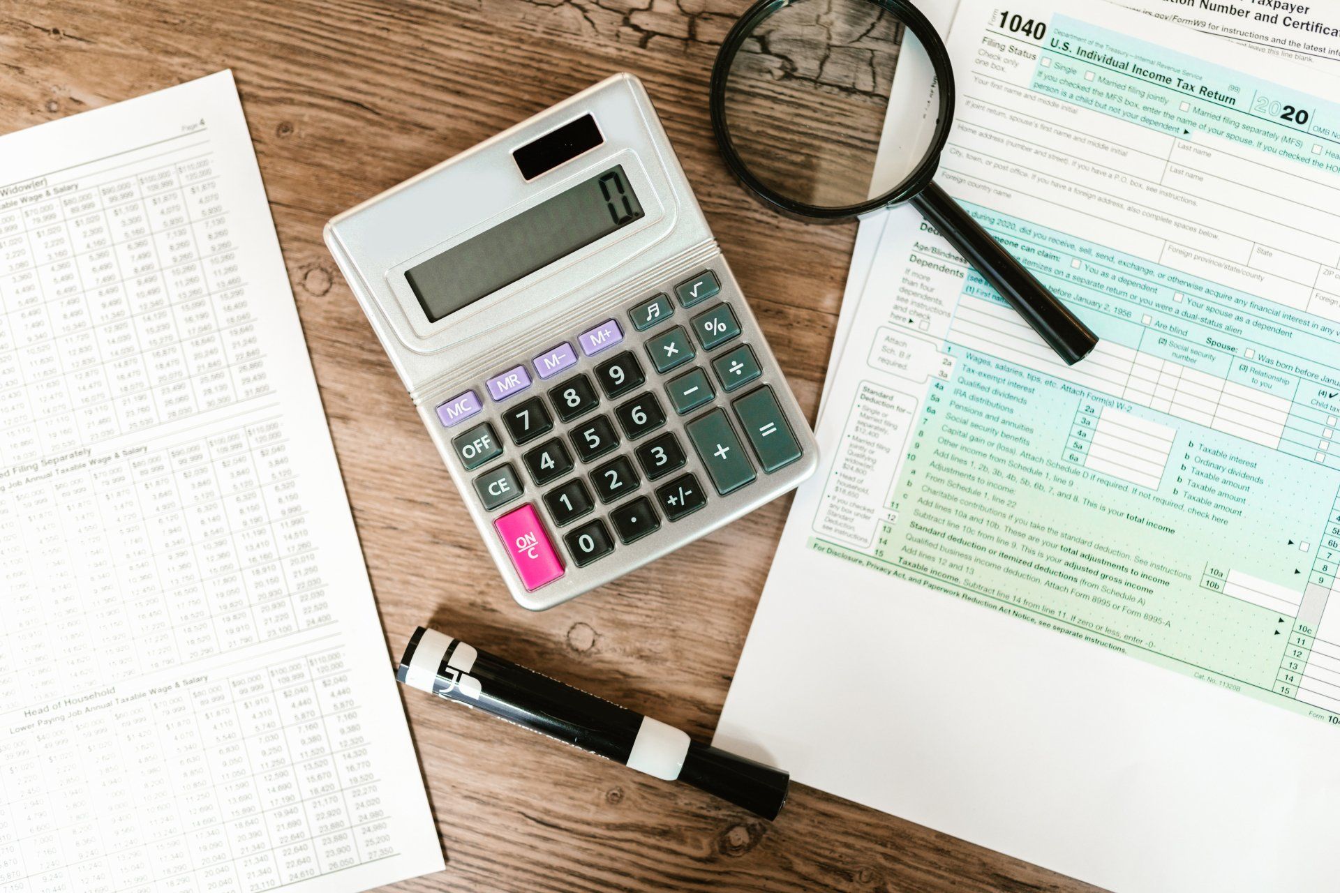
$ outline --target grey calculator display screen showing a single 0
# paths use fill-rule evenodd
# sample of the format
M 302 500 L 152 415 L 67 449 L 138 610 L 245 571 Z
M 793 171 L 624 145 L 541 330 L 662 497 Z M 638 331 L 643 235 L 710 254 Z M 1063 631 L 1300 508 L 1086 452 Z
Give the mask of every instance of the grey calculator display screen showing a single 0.
M 616 165 L 405 270 L 429 323 L 642 217 Z

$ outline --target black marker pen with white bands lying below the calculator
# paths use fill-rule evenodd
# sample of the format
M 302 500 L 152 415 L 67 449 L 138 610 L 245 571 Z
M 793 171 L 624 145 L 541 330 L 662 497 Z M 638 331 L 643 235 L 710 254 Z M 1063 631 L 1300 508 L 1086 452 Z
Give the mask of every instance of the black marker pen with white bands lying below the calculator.
M 699 744 L 673 726 L 434 629 L 414 631 L 395 677 L 647 775 L 687 782 L 768 819 L 787 802 L 791 777 L 779 768 Z

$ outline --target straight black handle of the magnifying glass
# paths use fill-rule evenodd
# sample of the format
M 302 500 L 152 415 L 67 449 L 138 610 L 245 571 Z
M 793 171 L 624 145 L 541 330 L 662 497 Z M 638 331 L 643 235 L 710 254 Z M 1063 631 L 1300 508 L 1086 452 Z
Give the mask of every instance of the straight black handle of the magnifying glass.
M 1045 285 L 1033 278 L 1033 274 L 938 183 L 934 181 L 926 183 L 926 187 L 910 201 L 1067 364 L 1075 366 L 1093 349 L 1097 335 L 1056 300 Z

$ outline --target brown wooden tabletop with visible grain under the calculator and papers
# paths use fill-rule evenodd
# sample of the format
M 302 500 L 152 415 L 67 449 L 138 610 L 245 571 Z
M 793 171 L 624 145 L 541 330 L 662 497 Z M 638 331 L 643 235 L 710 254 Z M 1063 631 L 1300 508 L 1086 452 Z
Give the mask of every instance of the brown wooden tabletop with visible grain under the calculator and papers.
M 540 615 L 504 589 L 322 244 L 351 205 L 616 71 L 646 83 L 813 418 L 855 228 L 783 220 L 721 165 L 717 44 L 746 0 L 0 3 L 0 130 L 230 67 L 386 628 L 430 623 L 709 739 L 789 499 Z M 768 823 L 406 694 L 446 872 L 414 890 L 1084 890 L 803 786 Z M 909 767 L 915 771 L 915 767 Z

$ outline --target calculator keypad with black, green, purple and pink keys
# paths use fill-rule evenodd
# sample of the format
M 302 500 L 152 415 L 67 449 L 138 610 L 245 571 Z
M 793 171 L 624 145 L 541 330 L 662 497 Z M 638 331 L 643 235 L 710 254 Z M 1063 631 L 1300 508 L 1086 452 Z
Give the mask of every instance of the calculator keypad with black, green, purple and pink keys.
M 560 578 L 570 564 L 584 568 L 666 536 L 658 532 L 709 499 L 803 455 L 773 387 L 758 384 L 758 356 L 712 270 L 624 313 L 592 320 L 529 366 L 513 364 L 437 407 L 452 427 L 482 411 L 481 396 L 500 404 L 496 418 L 458 424 L 452 446 L 473 471 L 480 503 L 500 513 L 497 536 L 528 590 Z M 543 390 L 515 396 L 532 375 Z M 515 447 L 525 449 L 509 454 Z

